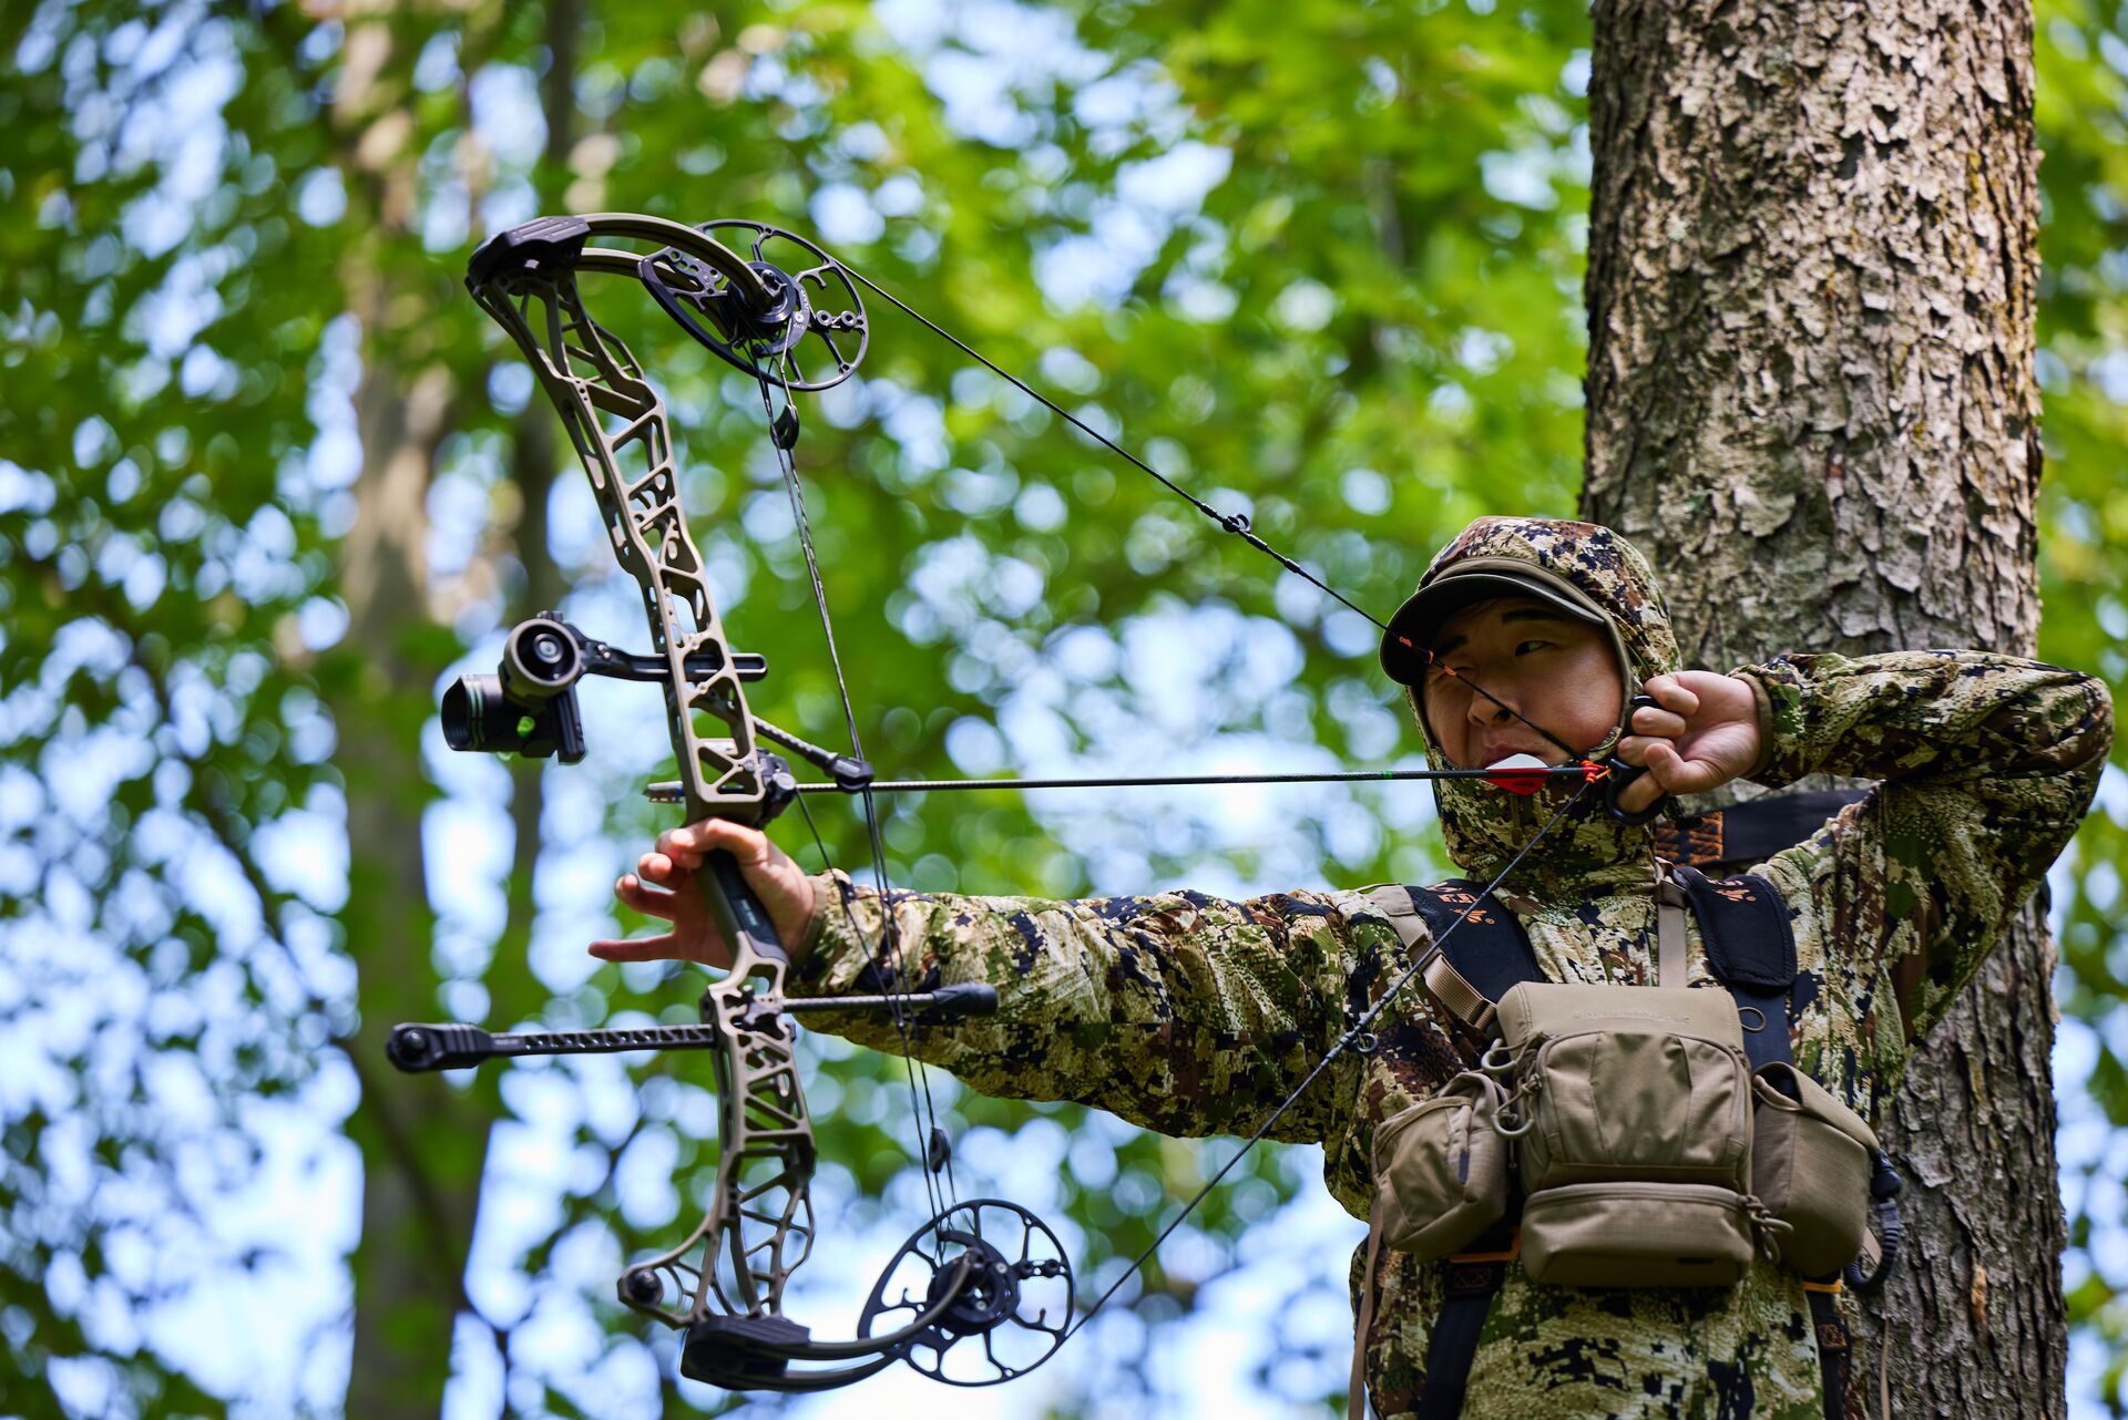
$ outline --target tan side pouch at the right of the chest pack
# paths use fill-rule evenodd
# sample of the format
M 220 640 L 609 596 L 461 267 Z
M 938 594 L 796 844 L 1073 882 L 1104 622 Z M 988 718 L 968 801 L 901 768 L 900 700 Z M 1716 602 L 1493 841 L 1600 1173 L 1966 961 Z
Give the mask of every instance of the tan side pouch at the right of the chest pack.
M 1751 1088 L 1751 1193 L 1788 1224 L 1781 1261 L 1834 1273 L 1862 1252 L 1877 1135 L 1794 1065 L 1760 1065 Z

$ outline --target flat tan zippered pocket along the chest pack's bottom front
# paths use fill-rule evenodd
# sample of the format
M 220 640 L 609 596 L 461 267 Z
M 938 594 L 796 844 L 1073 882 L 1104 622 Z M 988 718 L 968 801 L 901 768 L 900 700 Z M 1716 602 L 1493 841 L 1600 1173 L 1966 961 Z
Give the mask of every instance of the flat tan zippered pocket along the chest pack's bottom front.
M 1568 1184 L 1522 1205 L 1522 1267 L 1553 1286 L 1732 1286 L 1751 1214 L 1713 1184 Z

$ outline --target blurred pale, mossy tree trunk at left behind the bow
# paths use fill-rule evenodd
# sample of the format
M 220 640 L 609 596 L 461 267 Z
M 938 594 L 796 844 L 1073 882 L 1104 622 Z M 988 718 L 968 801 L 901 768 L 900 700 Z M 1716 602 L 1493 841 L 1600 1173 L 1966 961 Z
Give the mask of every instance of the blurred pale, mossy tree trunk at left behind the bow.
M 449 291 L 449 278 L 411 238 L 421 149 L 404 70 L 417 51 L 406 36 L 394 36 L 389 15 L 351 26 L 332 108 L 349 206 L 362 213 L 366 236 L 340 264 L 349 310 L 362 323 L 362 468 L 340 563 L 347 638 L 334 653 L 340 667 L 326 682 L 347 784 L 349 895 L 340 925 L 362 971 L 362 1029 L 351 1050 L 370 1063 L 383 1061 L 394 1022 L 438 1014 L 421 857 L 421 812 L 432 797 L 421 725 L 443 665 L 415 646 L 434 621 L 428 489 L 460 393 L 447 361 L 415 329 Z M 436 1080 L 404 1080 L 389 1069 L 375 1071 L 372 1086 L 347 1122 L 362 1148 L 347 1414 L 417 1420 L 438 1414 L 451 1377 L 494 1097 L 468 1101 Z

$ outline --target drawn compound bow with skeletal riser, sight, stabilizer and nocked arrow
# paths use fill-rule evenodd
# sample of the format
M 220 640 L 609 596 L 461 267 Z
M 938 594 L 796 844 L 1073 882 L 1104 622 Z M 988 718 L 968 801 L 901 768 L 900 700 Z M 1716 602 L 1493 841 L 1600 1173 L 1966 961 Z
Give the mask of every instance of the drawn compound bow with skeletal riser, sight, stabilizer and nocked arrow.
M 587 244 L 594 238 L 655 247 L 647 255 Z M 726 240 L 743 244 L 741 257 Z M 768 674 L 758 655 L 732 650 L 711 597 L 702 553 L 679 502 L 672 438 L 664 400 L 638 361 L 611 332 L 585 312 L 577 293 L 579 272 L 606 272 L 641 281 L 655 302 L 694 340 L 753 376 L 770 421 L 785 489 L 834 676 L 843 687 L 849 755 L 819 748 L 764 723 L 747 708 L 745 684 Z M 517 625 L 496 676 L 464 676 L 445 695 L 443 721 L 451 748 L 583 759 L 577 680 L 615 676 L 649 680 L 664 689 L 679 780 L 653 784 L 651 797 L 683 806 L 687 823 L 734 818 L 762 825 L 800 793 L 851 793 L 862 799 L 881 895 L 885 848 L 872 793 L 892 789 L 958 789 L 1015 780 L 902 780 L 875 784 L 858 740 L 855 712 L 834 653 L 834 627 L 813 551 L 804 495 L 792 446 L 798 440 L 794 393 L 821 391 L 847 381 L 870 340 L 858 287 L 864 287 L 951 340 L 972 359 L 1041 400 L 1132 466 L 1185 497 L 1221 529 L 1277 559 L 1347 608 L 1370 616 L 1326 587 L 1315 574 L 1268 546 L 1241 514 L 1224 514 L 1181 489 L 1126 449 L 1087 427 L 970 346 L 962 344 L 892 293 L 843 266 L 813 242 L 753 221 L 711 221 L 687 227 L 660 217 L 596 215 L 543 217 L 483 242 L 472 253 L 466 287 L 517 342 L 541 387 L 562 417 L 592 478 L 619 563 L 641 582 L 651 650 L 632 655 L 594 640 L 558 612 Z M 779 404 L 781 395 L 781 404 Z M 1515 719 L 1519 712 L 1473 687 Z M 1524 721 L 1524 725 L 1530 725 Z M 1294 782 L 1360 778 L 1485 776 L 1528 793 L 1553 776 L 1579 780 L 1573 797 L 1502 869 L 1504 878 L 1553 825 L 1605 784 L 1613 799 L 1630 770 L 1596 763 L 1551 733 L 1568 763 L 1519 770 L 1402 770 L 1277 776 L 1162 776 L 1158 780 L 1019 780 L 1021 787 L 1096 787 L 1119 782 Z M 811 763 L 828 782 L 800 784 L 789 763 L 764 748 L 770 742 Z M 896 1360 L 962 1386 L 990 1386 L 1047 1360 L 1085 1326 L 1087 1318 L 1134 1275 L 1153 1250 L 1194 1212 L 1213 1186 L 1253 1148 L 1290 1103 L 1347 1048 L 1368 1048 L 1370 1025 L 1402 986 L 1439 954 L 1453 933 L 1415 959 L 1311 1069 L 1279 1110 L 1207 1180 L 1196 1197 L 1160 1231 L 1145 1252 L 1073 1322 L 1073 1269 L 1055 1233 L 1028 1210 L 1002 1199 L 960 1201 L 953 1188 L 951 1146 L 936 1125 L 928 1088 L 909 1065 L 915 1114 L 930 1122 L 926 1186 L 932 1218 L 892 1256 L 858 1316 L 849 1341 L 817 1341 L 783 1312 L 792 1271 L 804 1263 L 815 1237 L 811 1178 L 813 1125 L 798 1080 L 794 1016 L 819 1010 L 881 1012 L 898 1029 L 904 1056 L 913 1059 L 926 1025 L 987 1014 L 998 995 L 985 984 L 928 993 L 904 988 L 894 912 L 881 912 L 875 963 L 885 991 L 832 999 L 783 995 L 789 967 L 768 914 L 726 852 L 711 852 L 696 874 L 711 918 L 732 944 L 732 967 L 700 999 L 702 1025 L 487 1033 L 470 1025 L 400 1025 L 389 1056 L 400 1069 L 430 1071 L 477 1065 L 494 1056 L 587 1054 L 655 1048 L 715 1052 L 721 1099 L 717 1180 L 702 1222 L 675 1248 L 630 1265 L 617 1284 L 619 1299 L 685 1333 L 679 1369 L 730 1390 L 828 1390 L 872 1375 Z M 1460 927 L 1460 923 L 1458 923 Z

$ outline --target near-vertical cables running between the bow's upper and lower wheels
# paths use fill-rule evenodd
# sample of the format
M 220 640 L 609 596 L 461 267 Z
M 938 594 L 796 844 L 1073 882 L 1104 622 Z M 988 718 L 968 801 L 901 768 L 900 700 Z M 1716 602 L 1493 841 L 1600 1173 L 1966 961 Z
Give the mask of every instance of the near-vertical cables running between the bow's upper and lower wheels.
M 855 755 L 858 759 L 864 759 L 864 742 L 858 736 L 858 708 L 849 697 L 849 680 L 843 674 L 843 655 L 834 644 L 834 616 L 828 612 L 828 585 L 821 580 L 819 574 L 819 551 L 813 544 L 813 521 L 811 517 L 807 517 L 804 485 L 798 478 L 798 461 L 792 457 L 792 451 L 785 449 L 781 440 L 777 440 L 772 432 L 777 421 L 777 410 L 775 410 L 775 400 L 768 391 L 772 387 L 781 387 L 783 406 L 792 408 L 789 376 L 779 372 L 772 378 L 764 368 L 755 368 L 755 376 L 762 389 L 762 412 L 768 415 L 768 425 L 770 425 L 768 444 L 777 451 L 777 468 L 783 474 L 783 491 L 789 497 L 792 523 L 798 531 L 798 546 L 804 553 L 807 576 L 813 582 L 813 606 L 819 612 L 819 627 L 828 640 L 828 665 L 834 672 L 834 689 L 843 701 L 843 725 L 849 731 L 849 753 Z M 858 935 L 858 942 L 864 944 L 870 959 L 875 963 L 885 961 L 887 988 L 881 995 L 887 997 L 887 1018 L 894 1022 L 894 1033 L 902 1046 L 902 1069 L 909 1076 L 909 1101 L 917 1118 L 917 1129 L 928 1131 L 924 1133 L 924 1137 L 917 1139 L 917 1161 L 919 1161 L 919 1171 L 924 1173 L 924 1195 L 932 1207 L 932 1216 L 943 1218 L 949 1212 L 949 1205 L 951 1207 L 960 1205 L 960 1188 L 958 1182 L 953 1180 L 953 1152 L 951 1148 L 947 1148 L 945 1152 L 945 1178 L 941 1182 L 941 1176 L 934 1173 L 930 1167 L 930 1152 L 932 1152 L 930 1139 L 936 1139 L 941 1135 L 938 1105 L 932 1099 L 930 1071 L 917 1063 L 917 1050 L 924 1039 L 921 1027 L 917 1025 L 915 1012 L 909 1010 L 909 1005 L 902 1001 L 902 997 L 909 993 L 909 971 L 907 971 L 907 957 L 902 950 L 900 918 L 894 912 L 894 889 L 887 884 L 887 842 L 879 827 L 879 801 L 872 797 L 870 789 L 860 791 L 860 801 L 864 806 L 864 831 L 872 857 L 872 884 L 879 891 L 879 933 L 881 933 L 879 946 L 877 948 L 872 946 L 870 933 L 862 929 L 862 925 L 858 923 L 858 914 L 847 899 L 843 899 L 843 912 L 847 914 L 849 925 Z M 804 797 L 798 799 L 798 806 L 804 808 Z M 811 829 L 813 833 L 813 844 L 819 848 L 821 863 L 826 863 L 832 869 L 834 863 L 828 859 L 828 844 L 819 833 L 819 825 L 813 823 L 811 810 L 804 812 L 804 821 L 807 829 Z M 836 897 L 843 897 L 843 893 L 836 891 Z

